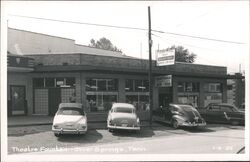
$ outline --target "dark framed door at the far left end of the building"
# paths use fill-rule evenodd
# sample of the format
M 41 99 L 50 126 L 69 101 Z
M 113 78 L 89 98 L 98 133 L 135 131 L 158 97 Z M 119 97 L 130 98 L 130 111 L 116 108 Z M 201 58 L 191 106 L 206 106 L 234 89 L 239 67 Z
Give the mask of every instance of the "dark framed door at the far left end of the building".
M 25 86 L 10 86 L 11 115 L 26 115 Z

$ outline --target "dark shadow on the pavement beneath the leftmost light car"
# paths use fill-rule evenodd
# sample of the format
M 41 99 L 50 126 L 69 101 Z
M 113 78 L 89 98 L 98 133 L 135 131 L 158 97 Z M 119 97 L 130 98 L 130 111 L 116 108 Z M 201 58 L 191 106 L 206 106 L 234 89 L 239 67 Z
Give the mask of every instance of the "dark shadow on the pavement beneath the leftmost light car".
M 96 130 L 88 131 L 86 134 L 76 135 L 76 134 L 64 134 L 57 138 L 60 142 L 67 143 L 95 143 L 96 141 L 102 139 L 101 133 Z

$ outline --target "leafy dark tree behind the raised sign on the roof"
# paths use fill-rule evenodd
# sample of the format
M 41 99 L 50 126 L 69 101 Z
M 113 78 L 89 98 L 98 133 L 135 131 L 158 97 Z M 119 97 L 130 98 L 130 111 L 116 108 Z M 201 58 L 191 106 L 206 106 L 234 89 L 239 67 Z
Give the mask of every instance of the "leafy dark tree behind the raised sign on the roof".
M 185 49 L 182 46 L 171 46 L 168 49 L 175 49 L 175 61 L 177 62 L 187 62 L 193 63 L 196 59 L 196 54 L 190 53 L 188 49 Z

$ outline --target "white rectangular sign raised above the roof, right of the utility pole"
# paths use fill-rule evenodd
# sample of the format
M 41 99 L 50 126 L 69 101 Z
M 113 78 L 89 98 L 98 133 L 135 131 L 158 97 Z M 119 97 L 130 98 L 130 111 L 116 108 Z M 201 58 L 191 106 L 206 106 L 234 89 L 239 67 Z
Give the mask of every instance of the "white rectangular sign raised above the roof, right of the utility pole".
M 157 50 L 156 51 L 157 66 L 173 65 L 175 63 L 175 50 Z

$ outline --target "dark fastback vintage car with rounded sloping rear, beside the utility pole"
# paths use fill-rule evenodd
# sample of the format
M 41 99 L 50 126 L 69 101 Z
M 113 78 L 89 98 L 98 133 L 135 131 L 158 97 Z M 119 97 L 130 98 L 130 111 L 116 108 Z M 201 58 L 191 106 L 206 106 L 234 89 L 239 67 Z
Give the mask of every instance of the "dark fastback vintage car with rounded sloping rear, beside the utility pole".
M 206 122 L 199 112 L 194 107 L 184 104 L 169 104 L 167 107 L 160 107 L 153 111 L 153 119 L 171 124 L 175 129 L 182 126 L 206 126 Z

